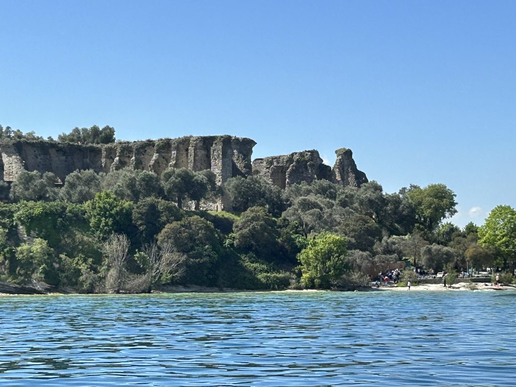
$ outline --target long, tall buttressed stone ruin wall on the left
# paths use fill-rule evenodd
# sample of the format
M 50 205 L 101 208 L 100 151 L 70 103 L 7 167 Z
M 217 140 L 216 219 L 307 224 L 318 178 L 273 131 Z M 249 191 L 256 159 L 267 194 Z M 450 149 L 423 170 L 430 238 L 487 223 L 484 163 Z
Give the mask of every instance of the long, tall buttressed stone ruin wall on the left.
M 49 141 L 0 143 L 0 179 L 14 181 L 23 171 L 53 172 L 62 181 L 79 169 L 110 172 L 125 167 L 161 174 L 168 167 L 211 169 L 222 184 L 252 173 L 256 143 L 232 136 L 183 137 L 156 141 L 117 142 L 104 146 Z

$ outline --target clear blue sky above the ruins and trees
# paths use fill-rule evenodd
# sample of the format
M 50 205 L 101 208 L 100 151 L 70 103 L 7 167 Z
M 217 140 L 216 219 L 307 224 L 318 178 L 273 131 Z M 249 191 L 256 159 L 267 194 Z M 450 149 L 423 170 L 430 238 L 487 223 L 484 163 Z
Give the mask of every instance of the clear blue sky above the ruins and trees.
M 516 206 L 516 2 L 0 0 L 0 124 L 350 148 L 385 192 Z

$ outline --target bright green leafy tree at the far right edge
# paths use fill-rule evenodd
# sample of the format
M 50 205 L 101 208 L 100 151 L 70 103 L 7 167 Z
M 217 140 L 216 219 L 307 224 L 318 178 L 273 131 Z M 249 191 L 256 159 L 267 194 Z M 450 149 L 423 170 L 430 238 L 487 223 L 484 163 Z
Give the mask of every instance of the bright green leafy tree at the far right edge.
M 509 267 L 514 273 L 516 254 L 516 211 L 509 205 L 498 205 L 492 209 L 486 222 L 478 229 L 478 243 L 498 249 L 499 266 Z

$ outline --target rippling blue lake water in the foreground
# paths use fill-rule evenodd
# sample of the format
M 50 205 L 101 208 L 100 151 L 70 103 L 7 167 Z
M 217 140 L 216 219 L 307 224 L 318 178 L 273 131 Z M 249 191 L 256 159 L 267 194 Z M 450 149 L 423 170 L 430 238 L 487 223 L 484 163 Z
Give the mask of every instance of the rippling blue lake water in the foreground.
M 0 297 L 4 386 L 514 386 L 516 292 Z

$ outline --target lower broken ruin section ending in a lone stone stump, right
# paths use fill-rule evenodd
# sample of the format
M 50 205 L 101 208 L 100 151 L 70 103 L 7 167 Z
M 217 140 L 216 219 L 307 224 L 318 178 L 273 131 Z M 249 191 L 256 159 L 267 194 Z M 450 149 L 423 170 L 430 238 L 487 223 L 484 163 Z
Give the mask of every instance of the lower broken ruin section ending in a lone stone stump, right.
M 257 158 L 253 160 L 253 174 L 283 189 L 292 184 L 320 179 L 357 188 L 367 182 L 365 173 L 357 169 L 351 150 L 339 149 L 335 153 L 337 160 L 333 170 L 322 163 L 319 152 L 312 150 Z

